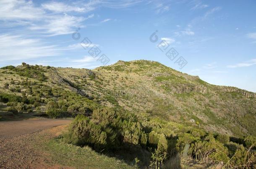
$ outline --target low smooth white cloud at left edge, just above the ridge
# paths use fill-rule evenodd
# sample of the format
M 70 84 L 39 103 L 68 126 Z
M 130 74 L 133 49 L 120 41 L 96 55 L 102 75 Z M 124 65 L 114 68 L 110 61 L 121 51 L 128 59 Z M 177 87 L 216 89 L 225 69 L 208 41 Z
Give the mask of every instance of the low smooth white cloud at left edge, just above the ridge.
M 47 45 L 40 39 L 21 35 L 0 35 L 0 61 L 16 61 L 61 54 L 61 48 Z

